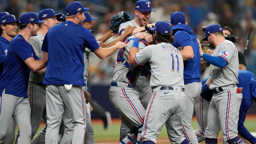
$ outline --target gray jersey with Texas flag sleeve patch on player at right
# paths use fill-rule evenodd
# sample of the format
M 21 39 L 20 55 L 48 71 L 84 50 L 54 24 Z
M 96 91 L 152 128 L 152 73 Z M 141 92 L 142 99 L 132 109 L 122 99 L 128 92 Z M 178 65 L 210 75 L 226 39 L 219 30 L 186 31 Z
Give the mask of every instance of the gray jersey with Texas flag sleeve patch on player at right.
M 219 68 L 210 65 L 211 68 L 211 82 L 210 90 L 220 86 L 227 86 L 230 84 L 238 84 L 238 50 L 236 46 L 229 40 L 224 40 L 212 52 L 212 56 L 220 56 L 226 60 L 225 68 Z

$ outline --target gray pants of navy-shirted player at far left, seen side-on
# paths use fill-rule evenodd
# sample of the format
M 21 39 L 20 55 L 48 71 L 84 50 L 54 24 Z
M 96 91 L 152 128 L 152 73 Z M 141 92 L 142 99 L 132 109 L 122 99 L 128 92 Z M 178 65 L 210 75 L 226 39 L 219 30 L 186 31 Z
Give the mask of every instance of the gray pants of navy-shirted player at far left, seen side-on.
M 20 136 L 18 144 L 30 144 L 31 124 L 28 98 L 22 98 L 2 92 L 0 100 L 0 140 L 6 135 L 11 119 L 18 125 Z

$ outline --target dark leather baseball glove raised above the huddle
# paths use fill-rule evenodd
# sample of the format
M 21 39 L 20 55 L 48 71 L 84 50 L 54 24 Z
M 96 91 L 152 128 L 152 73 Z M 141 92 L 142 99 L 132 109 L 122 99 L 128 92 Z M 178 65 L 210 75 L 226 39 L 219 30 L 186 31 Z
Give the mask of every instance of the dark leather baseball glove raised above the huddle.
M 124 11 L 118 12 L 110 18 L 109 30 L 112 30 L 114 34 L 118 33 L 120 24 L 130 21 L 131 17 Z

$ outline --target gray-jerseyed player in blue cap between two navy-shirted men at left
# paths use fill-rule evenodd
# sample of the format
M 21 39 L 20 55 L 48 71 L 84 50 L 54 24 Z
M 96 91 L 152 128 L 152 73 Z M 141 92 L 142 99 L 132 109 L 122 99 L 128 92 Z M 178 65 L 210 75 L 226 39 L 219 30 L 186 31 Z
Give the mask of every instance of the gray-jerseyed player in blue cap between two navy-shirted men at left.
M 59 23 L 57 18 L 59 18 L 60 16 L 62 16 L 62 14 L 55 14 L 54 10 L 50 8 L 44 9 L 38 13 L 39 20 L 44 21 L 44 23 L 39 25 L 40 29 L 37 32 L 37 36 L 33 36 L 30 38 L 30 44 L 34 49 L 36 56 L 38 56 L 41 60 L 43 59 L 43 52 L 41 51 L 41 48 L 44 36 L 52 26 Z M 42 118 L 45 124 L 41 132 L 32 141 L 32 144 L 38 144 L 40 142 L 44 143 L 44 136 L 47 128 L 45 104 L 46 86 L 43 84 L 45 70 L 46 68 L 37 72 L 30 72 L 28 82 L 28 100 L 30 101 L 31 108 L 31 137 L 33 138 L 36 134 L 41 124 Z

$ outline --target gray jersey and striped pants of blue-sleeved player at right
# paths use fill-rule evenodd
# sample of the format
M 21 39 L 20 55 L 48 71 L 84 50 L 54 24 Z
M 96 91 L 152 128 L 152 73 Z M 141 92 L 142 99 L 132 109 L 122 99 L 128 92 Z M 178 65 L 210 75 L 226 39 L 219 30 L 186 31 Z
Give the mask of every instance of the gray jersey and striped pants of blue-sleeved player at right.
M 224 68 L 212 66 L 210 89 L 217 92 L 210 101 L 205 130 L 206 138 L 218 138 L 218 130 L 221 128 L 224 141 L 235 138 L 238 133 L 239 108 L 242 101 L 242 93 L 237 93 L 238 84 L 238 51 L 229 40 L 224 40 L 216 46 L 212 56 L 220 56 L 226 60 Z M 219 87 L 222 88 L 220 92 Z

